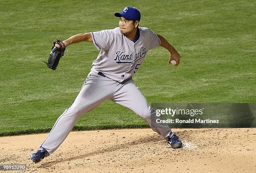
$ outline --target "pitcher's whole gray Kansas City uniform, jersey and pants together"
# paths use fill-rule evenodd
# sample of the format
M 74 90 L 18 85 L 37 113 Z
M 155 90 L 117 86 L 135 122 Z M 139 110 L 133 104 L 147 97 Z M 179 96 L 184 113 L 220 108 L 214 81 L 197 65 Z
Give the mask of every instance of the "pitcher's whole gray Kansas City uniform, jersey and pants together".
M 74 103 L 59 116 L 46 140 L 41 143 L 41 147 L 48 152 L 47 156 L 61 145 L 80 116 L 105 100 L 112 100 L 133 110 L 164 138 L 172 133 L 165 123 L 156 123 L 156 111 L 148 105 L 131 78 L 147 51 L 160 45 L 156 33 L 148 28 L 139 27 L 139 32 L 136 43 L 120 33 L 119 28 L 91 33 L 100 53 L 92 63 L 91 72 Z

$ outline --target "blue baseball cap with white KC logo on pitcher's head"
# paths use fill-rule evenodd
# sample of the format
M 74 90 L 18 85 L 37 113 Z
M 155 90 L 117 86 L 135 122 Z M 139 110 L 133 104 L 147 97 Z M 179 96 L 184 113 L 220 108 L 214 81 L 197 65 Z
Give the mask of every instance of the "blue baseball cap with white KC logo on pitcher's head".
M 124 17 L 130 20 L 141 20 L 141 13 L 135 7 L 125 7 L 121 13 L 115 13 L 116 17 Z

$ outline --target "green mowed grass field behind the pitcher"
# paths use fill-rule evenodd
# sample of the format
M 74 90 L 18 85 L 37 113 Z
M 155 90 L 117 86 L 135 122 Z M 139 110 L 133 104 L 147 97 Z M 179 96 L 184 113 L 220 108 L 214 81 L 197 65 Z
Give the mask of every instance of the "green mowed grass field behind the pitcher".
M 148 52 L 133 78 L 148 103 L 256 103 L 254 0 L 0 0 L 0 135 L 49 132 L 98 54 L 92 43 L 71 45 L 53 71 L 44 64 L 53 41 L 115 28 L 125 6 L 182 56 L 176 68 L 164 48 Z M 147 124 L 106 101 L 73 130 L 128 127 Z

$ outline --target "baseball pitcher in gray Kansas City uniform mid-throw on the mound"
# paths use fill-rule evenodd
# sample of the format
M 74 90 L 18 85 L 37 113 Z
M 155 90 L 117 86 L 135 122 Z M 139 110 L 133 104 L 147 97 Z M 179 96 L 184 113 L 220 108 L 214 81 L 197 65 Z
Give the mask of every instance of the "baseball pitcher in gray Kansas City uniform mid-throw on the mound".
M 169 50 L 169 64 L 179 65 L 180 55 L 161 35 L 139 27 L 141 13 L 134 7 L 125 7 L 119 18 L 119 27 L 91 33 L 80 33 L 63 42 L 56 40 L 47 66 L 56 69 L 67 46 L 82 41 L 92 42 L 100 50 L 92 63 L 82 89 L 70 108 L 56 120 L 49 135 L 35 153 L 30 155 L 38 163 L 51 155 L 65 140 L 78 118 L 105 100 L 123 105 L 143 118 L 150 127 L 166 138 L 172 148 L 181 148 L 182 141 L 165 123 L 156 123 L 156 111 L 136 87 L 133 75 L 140 68 L 148 50 L 161 46 Z

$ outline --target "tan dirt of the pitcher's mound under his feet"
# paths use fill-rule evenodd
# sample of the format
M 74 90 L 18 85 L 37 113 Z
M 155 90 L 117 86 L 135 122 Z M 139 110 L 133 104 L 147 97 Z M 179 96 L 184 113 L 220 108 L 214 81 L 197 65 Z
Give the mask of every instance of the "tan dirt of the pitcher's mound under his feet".
M 0 164 L 37 173 L 255 173 L 256 128 L 174 129 L 184 147 L 172 149 L 151 129 L 71 132 L 40 163 L 28 160 L 47 134 L 0 138 Z

